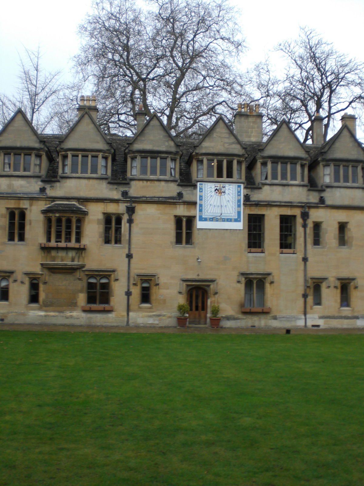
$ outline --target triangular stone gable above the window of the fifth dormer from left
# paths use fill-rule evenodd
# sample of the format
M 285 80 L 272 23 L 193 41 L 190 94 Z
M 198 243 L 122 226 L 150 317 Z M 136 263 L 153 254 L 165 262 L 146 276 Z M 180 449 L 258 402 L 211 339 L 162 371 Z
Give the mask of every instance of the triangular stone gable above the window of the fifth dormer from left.
M 302 143 L 285 120 L 281 121 L 265 142 L 261 155 L 308 158 Z

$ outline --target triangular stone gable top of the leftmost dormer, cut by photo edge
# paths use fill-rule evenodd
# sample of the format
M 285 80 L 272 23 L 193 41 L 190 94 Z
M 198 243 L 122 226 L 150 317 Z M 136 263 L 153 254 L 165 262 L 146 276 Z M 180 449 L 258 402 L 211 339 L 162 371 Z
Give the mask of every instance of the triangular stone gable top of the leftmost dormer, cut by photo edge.
M 19 108 L 0 132 L 1 147 L 42 147 L 38 133 Z

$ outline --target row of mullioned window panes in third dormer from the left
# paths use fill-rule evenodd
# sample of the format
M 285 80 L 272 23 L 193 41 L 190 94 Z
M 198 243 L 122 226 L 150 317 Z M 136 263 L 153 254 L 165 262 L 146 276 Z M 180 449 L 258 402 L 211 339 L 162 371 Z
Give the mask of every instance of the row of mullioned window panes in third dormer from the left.
M 130 175 L 176 177 L 176 162 L 170 156 L 132 156 Z

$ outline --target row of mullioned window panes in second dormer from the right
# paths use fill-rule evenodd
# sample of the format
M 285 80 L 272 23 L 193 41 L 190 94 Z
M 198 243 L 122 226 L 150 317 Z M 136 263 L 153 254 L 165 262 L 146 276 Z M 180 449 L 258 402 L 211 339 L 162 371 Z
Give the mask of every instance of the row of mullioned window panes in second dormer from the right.
M 268 160 L 260 168 L 261 181 L 305 182 L 305 163 Z

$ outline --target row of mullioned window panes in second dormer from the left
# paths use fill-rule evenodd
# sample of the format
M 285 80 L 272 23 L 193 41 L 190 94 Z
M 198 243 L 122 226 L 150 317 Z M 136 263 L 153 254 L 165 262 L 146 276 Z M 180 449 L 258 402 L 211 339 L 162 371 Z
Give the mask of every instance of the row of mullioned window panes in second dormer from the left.
M 109 157 L 103 154 L 63 154 L 61 174 L 107 175 Z

